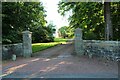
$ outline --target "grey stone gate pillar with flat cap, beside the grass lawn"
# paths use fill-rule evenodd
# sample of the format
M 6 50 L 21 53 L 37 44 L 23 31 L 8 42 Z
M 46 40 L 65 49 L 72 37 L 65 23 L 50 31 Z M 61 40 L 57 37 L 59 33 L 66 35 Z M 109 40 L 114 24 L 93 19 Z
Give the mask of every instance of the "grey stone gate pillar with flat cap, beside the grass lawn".
M 23 31 L 23 57 L 31 57 L 32 54 L 32 32 Z

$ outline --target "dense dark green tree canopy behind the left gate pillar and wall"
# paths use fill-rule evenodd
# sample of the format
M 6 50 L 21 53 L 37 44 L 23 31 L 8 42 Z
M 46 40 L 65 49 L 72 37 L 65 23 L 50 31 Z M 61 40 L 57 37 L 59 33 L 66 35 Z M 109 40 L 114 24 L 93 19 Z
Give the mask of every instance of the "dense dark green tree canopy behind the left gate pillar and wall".
M 44 6 L 41 2 L 3 2 L 2 37 L 3 43 L 22 41 L 22 31 L 33 32 L 33 42 L 48 42 L 51 28 L 46 26 Z M 52 39 L 53 40 L 53 39 Z

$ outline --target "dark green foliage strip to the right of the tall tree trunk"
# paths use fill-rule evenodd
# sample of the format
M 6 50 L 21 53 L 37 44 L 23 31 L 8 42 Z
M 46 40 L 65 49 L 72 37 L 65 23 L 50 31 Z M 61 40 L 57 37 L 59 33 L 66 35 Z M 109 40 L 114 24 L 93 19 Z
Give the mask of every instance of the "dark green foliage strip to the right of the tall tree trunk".
M 113 28 L 113 40 L 120 40 L 120 2 L 111 3 L 111 20 Z

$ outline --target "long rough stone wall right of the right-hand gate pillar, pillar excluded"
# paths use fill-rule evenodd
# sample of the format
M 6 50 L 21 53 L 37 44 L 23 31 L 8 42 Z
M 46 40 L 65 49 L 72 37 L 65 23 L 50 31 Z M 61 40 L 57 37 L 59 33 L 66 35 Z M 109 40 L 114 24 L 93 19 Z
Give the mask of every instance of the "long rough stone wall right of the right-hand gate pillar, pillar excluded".
M 120 41 L 83 40 L 84 53 L 116 60 L 120 58 Z

